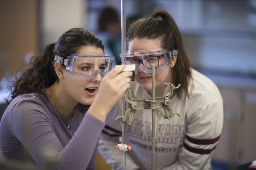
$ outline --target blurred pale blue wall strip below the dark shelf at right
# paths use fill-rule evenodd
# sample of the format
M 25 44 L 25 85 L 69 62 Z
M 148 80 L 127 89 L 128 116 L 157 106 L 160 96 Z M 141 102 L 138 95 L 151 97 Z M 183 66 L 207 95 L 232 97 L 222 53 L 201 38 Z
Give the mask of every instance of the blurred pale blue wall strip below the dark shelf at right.
M 182 35 L 192 66 L 256 73 L 256 39 Z

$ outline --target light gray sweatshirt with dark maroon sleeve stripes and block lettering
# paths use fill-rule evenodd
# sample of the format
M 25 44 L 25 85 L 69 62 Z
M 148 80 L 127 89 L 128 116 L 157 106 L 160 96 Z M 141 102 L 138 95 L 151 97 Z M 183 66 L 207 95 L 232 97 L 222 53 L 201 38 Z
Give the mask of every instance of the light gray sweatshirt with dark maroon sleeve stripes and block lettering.
M 173 96 L 170 105 L 172 119 L 164 119 L 163 108 L 155 110 L 155 170 L 210 170 L 212 154 L 217 147 L 223 127 L 223 99 L 218 87 L 203 74 L 191 69 L 188 85 L 189 97 Z M 151 96 L 136 82 L 131 82 L 136 99 Z M 114 170 L 123 170 L 123 155 L 120 149 L 122 123 L 115 120 L 121 115 L 121 103 L 109 112 L 106 126 L 99 140 L 98 150 Z M 136 111 L 133 122 L 127 125 L 126 170 L 140 167 L 151 170 L 152 111 Z

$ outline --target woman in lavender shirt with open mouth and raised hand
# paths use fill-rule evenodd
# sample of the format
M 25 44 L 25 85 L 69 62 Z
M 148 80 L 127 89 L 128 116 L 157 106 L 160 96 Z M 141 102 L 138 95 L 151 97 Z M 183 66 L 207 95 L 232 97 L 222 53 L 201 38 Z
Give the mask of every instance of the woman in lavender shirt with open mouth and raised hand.
M 44 168 L 95 169 L 97 143 L 108 112 L 129 87 L 132 72 L 112 69 L 114 57 L 93 32 L 73 28 L 31 59 L 15 80 L 0 123 L 5 159 L 25 160 L 24 152 Z M 111 70 L 111 71 L 110 71 Z

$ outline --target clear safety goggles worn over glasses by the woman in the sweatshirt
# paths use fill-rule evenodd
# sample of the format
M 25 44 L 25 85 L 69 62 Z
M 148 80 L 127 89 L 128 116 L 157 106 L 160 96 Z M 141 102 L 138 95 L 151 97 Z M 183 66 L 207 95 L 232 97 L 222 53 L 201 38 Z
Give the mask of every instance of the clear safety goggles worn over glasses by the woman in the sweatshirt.
M 178 55 L 178 50 L 169 51 L 167 49 L 150 49 L 128 51 L 124 55 L 126 64 L 135 64 L 135 74 L 139 69 L 145 73 L 152 73 L 152 65 L 155 64 L 155 72 L 159 72 L 170 63 L 171 58 Z M 122 55 L 120 55 L 121 57 Z

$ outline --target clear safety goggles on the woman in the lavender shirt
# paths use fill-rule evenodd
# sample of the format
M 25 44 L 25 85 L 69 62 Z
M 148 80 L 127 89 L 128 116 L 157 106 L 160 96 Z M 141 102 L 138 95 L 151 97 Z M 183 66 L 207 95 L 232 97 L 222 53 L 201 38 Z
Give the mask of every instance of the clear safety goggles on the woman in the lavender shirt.
M 65 65 L 69 73 L 82 78 L 95 78 L 98 74 L 106 76 L 112 69 L 114 58 L 101 53 L 71 54 L 67 59 L 54 56 L 54 60 Z

